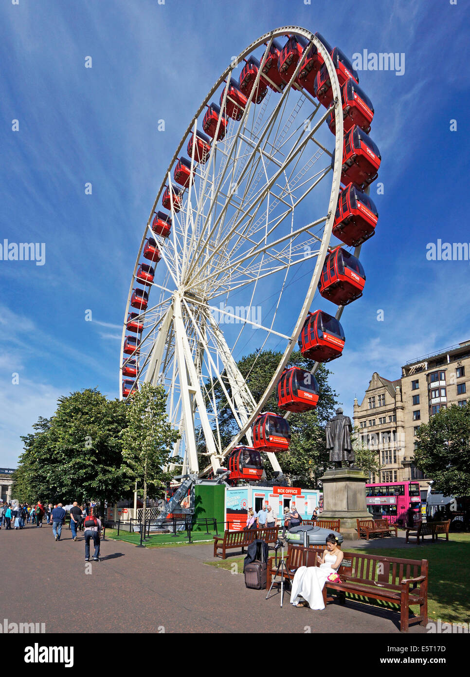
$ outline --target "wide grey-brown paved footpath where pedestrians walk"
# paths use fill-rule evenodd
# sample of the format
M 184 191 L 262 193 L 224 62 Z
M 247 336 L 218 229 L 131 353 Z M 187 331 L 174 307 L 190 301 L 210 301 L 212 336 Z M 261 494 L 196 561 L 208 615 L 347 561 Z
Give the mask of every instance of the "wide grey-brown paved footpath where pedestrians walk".
M 147 549 L 105 540 L 88 574 L 83 536 L 74 542 L 68 529 L 60 542 L 47 526 L 1 529 L 0 552 L 1 618 L 44 622 L 46 632 L 399 632 L 397 613 L 360 603 L 312 611 L 292 607 L 286 594 L 281 609 L 279 594 L 266 600 L 265 590 L 245 588 L 243 575 L 204 565 L 213 560 L 210 544 Z

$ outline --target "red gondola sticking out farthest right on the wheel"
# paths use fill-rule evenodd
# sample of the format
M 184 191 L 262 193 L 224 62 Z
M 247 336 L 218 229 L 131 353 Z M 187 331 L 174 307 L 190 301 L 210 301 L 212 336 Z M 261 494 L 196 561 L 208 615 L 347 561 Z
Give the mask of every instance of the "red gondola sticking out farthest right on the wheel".
M 363 188 L 377 179 L 380 167 L 380 152 L 370 136 L 355 125 L 344 135 L 343 166 L 341 181 L 344 185 L 356 183 Z M 331 157 L 331 168 L 335 165 L 335 152 Z

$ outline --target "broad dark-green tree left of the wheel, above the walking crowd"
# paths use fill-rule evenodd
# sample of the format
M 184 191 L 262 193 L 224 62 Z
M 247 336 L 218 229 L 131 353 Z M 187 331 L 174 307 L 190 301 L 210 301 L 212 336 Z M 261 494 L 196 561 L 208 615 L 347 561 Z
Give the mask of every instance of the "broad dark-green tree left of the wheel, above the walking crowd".
M 129 493 L 130 474 L 122 465 L 124 427 L 125 404 L 96 389 L 60 397 L 52 418 L 40 418 L 36 432 L 22 437 L 16 490 L 32 502 L 97 500 L 102 512 L 106 500 Z

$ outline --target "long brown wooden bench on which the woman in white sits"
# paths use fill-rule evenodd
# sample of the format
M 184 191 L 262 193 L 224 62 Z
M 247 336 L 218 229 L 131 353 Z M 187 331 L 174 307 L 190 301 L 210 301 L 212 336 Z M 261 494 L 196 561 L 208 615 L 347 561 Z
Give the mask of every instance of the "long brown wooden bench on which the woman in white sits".
M 291 577 L 302 566 L 317 566 L 316 555 L 325 546 L 287 547 L 286 567 Z M 268 562 L 266 589 L 271 586 L 276 572 L 273 557 Z M 427 559 L 399 559 L 356 552 L 344 552 L 342 565 L 338 569 L 339 583 L 327 581 L 323 588 L 325 606 L 334 600 L 327 590 L 339 592 L 339 602 L 346 604 L 346 592 L 361 597 L 383 600 L 400 607 L 400 631 L 408 632 L 410 623 L 427 625 Z M 287 577 L 287 572 L 285 573 Z M 410 606 L 419 605 L 419 616 L 410 619 Z

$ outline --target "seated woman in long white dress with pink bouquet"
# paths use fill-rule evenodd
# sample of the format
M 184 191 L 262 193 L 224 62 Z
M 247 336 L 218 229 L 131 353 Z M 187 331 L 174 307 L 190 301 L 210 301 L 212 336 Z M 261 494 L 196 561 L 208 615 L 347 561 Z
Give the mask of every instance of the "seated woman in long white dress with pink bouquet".
M 299 567 L 293 577 L 291 590 L 291 604 L 294 607 L 305 606 L 310 609 L 325 609 L 323 603 L 323 586 L 331 573 L 336 573 L 343 561 L 344 553 L 337 546 L 334 533 L 329 533 L 326 539 L 327 549 L 323 557 L 316 556 L 319 567 Z

